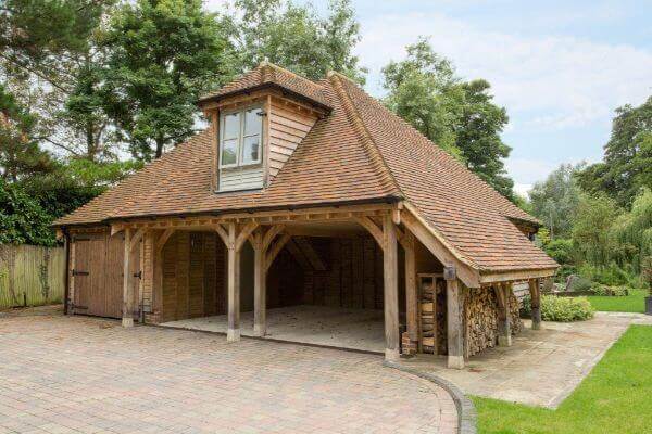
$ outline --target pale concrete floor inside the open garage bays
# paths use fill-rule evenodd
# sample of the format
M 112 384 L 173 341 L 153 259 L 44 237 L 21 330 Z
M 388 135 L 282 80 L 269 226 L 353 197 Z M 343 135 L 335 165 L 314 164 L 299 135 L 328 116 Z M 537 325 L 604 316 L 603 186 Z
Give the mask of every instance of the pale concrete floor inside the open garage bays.
M 160 326 L 226 333 L 227 316 L 184 319 Z M 240 334 L 253 336 L 253 311 L 240 314 Z M 267 309 L 264 339 L 383 354 L 384 314 L 383 310 L 309 305 Z

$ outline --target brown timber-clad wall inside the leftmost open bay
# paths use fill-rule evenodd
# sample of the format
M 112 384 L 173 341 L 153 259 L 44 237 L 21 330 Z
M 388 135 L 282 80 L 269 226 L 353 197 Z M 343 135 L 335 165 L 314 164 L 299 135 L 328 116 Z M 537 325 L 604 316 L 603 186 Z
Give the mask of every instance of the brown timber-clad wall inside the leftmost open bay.
M 226 314 L 225 247 L 216 233 L 177 231 L 162 256 L 162 322 Z

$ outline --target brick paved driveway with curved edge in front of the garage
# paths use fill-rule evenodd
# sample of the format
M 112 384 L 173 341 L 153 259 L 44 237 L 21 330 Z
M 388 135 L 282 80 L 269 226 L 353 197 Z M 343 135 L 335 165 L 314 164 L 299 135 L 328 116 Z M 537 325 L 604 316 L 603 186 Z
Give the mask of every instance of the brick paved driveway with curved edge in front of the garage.
M 0 318 L 0 433 L 452 433 L 377 356 L 91 318 Z

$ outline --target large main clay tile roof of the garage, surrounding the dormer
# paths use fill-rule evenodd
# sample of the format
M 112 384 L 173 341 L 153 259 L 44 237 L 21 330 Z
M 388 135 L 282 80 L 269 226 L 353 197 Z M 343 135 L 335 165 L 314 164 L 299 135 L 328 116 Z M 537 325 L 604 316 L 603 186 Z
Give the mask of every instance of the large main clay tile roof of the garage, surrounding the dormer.
M 246 77 L 229 89 L 244 86 Z M 556 268 L 513 222 L 537 225 L 535 218 L 355 84 L 337 73 L 306 81 L 331 112 L 317 120 L 264 190 L 210 191 L 206 130 L 55 225 L 405 200 L 455 255 L 480 271 Z

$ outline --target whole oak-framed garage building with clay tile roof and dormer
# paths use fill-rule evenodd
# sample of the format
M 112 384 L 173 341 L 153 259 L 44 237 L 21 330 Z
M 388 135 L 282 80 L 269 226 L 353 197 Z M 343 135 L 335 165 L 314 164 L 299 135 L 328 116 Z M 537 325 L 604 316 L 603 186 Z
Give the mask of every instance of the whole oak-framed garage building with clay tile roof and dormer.
M 556 264 L 538 222 L 346 77 L 263 63 L 210 128 L 58 220 L 68 314 L 448 355 L 521 327 Z

